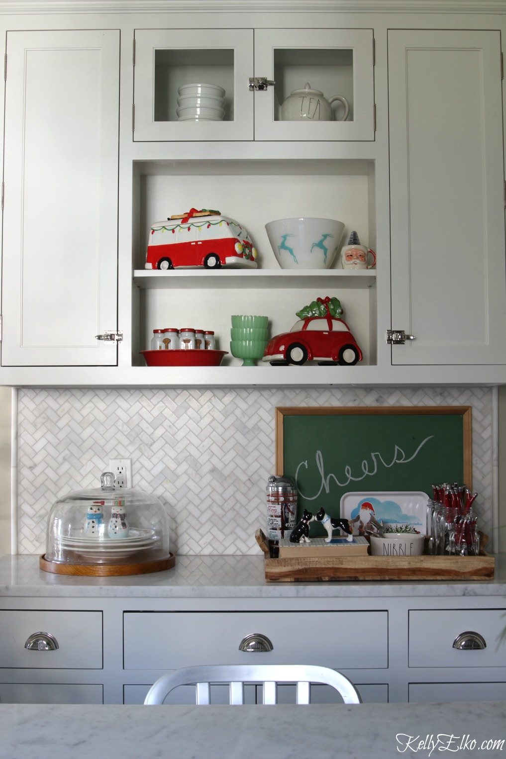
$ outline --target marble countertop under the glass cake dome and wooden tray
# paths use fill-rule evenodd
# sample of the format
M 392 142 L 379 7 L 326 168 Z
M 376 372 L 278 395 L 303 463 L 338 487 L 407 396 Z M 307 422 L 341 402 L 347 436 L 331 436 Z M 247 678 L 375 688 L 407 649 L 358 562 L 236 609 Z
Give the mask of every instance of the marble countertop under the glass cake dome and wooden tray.
M 176 556 L 165 572 L 128 577 L 71 577 L 39 568 L 39 556 L 0 558 L 3 597 L 339 598 L 501 596 L 506 556 L 495 556 L 495 576 L 479 581 L 266 582 L 264 556 Z M 506 754 L 505 754 L 506 756 Z

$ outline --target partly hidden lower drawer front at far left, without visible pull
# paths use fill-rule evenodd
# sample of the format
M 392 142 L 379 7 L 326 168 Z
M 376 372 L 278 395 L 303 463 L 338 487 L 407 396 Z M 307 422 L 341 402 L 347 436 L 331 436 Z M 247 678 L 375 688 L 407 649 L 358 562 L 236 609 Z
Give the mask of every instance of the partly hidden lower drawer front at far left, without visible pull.
M 103 704 L 103 685 L 0 682 L 2 704 Z

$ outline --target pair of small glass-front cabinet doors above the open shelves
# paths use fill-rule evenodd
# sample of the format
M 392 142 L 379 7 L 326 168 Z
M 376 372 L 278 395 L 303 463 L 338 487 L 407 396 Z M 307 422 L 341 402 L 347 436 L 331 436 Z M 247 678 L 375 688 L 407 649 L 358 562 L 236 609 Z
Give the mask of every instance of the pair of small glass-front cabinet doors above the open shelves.
M 134 50 L 136 142 L 374 140 L 371 29 L 141 29 Z M 225 90 L 223 119 L 179 112 L 189 103 L 179 88 L 191 83 Z M 294 90 L 302 92 L 287 120 Z

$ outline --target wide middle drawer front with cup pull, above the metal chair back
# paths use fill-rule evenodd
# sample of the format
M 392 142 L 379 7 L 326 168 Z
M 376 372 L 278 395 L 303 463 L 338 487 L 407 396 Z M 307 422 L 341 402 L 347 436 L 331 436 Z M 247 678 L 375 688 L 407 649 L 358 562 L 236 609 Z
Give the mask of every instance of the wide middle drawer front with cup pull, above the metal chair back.
M 198 664 L 319 664 L 334 669 L 388 666 L 388 615 L 375 612 L 125 612 L 125 669 L 178 669 Z M 267 653 L 239 650 L 261 633 Z M 361 652 L 370 650 L 370 656 Z

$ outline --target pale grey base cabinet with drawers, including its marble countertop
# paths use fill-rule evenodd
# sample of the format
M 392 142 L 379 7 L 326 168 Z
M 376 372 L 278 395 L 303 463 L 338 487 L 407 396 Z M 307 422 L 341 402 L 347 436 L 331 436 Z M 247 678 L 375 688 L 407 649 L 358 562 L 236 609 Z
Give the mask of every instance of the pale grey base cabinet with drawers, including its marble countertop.
M 43 701 L 51 685 L 51 703 L 72 687 L 72 701 L 139 704 L 170 669 L 251 661 L 334 667 L 365 702 L 504 698 L 503 559 L 492 581 L 266 583 L 263 556 L 178 556 L 166 572 L 102 578 L 99 588 L 96 578 L 40 572 L 37 556 L 5 556 L 0 697 Z M 33 631 L 52 633 L 59 650 L 25 650 Z M 485 648 L 454 649 L 468 631 Z M 249 635 L 258 644 L 239 650 Z M 248 688 L 250 703 L 259 688 Z M 289 686 L 280 693 L 291 698 Z M 174 702 L 192 695 L 178 691 Z M 314 697 L 335 694 L 322 686 Z

